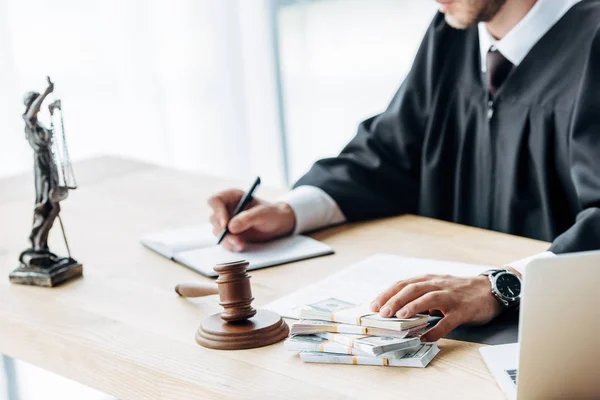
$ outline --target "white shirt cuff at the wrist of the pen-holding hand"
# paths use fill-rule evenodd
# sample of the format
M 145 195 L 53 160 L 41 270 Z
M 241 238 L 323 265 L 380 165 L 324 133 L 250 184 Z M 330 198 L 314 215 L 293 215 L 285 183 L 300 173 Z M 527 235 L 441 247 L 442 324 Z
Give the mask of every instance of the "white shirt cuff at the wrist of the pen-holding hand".
M 289 204 L 296 214 L 295 234 L 346 221 L 335 200 L 316 186 L 299 186 L 285 194 L 279 201 Z

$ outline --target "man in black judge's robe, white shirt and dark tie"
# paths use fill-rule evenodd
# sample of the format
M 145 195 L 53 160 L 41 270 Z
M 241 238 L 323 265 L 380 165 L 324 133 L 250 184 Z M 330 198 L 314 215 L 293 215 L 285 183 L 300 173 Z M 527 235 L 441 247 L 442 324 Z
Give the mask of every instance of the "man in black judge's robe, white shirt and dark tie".
M 534 257 L 600 249 L 600 0 L 438 3 L 388 109 L 339 156 L 231 221 L 242 193 L 210 199 L 226 247 L 410 213 L 552 242 Z M 506 306 L 487 276 L 415 277 L 372 304 L 383 316 L 439 310 L 428 341 Z

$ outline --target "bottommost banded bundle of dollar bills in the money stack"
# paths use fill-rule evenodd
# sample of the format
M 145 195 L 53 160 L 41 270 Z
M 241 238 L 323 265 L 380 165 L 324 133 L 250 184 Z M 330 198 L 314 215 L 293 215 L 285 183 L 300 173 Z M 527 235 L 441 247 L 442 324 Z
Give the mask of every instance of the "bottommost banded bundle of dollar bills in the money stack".
M 415 367 L 425 368 L 440 352 L 435 343 L 425 343 L 411 349 L 402 357 L 373 357 L 361 355 L 343 355 L 318 353 L 311 351 L 300 352 L 300 359 L 309 363 L 348 364 L 348 365 L 383 365 L 386 367 Z

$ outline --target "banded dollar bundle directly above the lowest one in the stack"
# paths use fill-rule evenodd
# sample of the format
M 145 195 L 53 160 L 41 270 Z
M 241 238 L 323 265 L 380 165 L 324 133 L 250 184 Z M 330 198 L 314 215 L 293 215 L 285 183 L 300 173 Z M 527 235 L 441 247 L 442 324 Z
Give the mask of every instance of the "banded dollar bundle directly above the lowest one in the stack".
M 418 337 L 394 338 L 389 336 L 364 336 L 330 332 L 317 333 L 316 336 L 343 346 L 359 349 L 372 356 L 378 356 L 390 351 L 406 350 L 421 345 L 421 339 Z

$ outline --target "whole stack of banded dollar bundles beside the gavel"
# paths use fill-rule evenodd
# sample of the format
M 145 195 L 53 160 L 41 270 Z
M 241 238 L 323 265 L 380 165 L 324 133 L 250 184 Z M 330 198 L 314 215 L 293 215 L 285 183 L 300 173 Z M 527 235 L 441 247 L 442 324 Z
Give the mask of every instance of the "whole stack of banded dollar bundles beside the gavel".
M 439 353 L 435 343 L 421 343 L 426 328 L 426 315 L 383 318 L 332 298 L 301 307 L 284 347 L 304 362 L 424 368 Z

